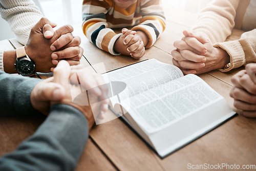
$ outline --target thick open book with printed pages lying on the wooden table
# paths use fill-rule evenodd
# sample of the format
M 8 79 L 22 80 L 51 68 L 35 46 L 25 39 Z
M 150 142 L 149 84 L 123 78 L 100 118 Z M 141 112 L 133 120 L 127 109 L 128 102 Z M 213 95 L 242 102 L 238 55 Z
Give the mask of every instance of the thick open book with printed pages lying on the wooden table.
M 112 97 L 120 115 L 163 158 L 235 115 L 225 99 L 196 75 L 156 59 L 102 74 L 126 83 Z

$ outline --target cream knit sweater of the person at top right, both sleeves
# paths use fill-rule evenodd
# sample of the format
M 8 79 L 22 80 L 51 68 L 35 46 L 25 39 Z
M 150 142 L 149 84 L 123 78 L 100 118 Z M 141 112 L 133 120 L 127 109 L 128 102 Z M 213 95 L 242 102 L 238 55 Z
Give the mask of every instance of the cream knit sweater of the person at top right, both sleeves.
M 214 47 L 230 56 L 230 67 L 222 72 L 256 62 L 256 0 L 213 0 L 199 14 L 193 30 L 204 34 Z M 226 41 L 233 28 L 244 29 L 239 40 Z M 250 30 L 250 31 L 248 31 Z

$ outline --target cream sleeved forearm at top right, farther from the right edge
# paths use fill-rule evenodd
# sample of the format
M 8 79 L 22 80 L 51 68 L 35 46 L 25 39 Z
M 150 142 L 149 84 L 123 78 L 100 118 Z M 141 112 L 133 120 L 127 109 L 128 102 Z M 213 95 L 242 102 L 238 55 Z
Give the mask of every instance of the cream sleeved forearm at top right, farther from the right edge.
M 239 1 L 215 0 L 200 14 L 193 30 L 201 32 L 212 44 L 223 42 L 231 34 Z

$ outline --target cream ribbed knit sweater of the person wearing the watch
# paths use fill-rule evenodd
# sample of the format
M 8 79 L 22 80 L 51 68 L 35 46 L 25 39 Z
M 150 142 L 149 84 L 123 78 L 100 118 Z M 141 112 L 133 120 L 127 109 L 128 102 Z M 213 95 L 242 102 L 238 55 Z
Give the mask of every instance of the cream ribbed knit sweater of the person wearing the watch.
M 32 0 L 0 0 L 0 13 L 23 45 L 27 44 L 31 28 L 42 17 L 42 13 Z M 1 71 L 4 71 L 3 55 L 0 47 Z

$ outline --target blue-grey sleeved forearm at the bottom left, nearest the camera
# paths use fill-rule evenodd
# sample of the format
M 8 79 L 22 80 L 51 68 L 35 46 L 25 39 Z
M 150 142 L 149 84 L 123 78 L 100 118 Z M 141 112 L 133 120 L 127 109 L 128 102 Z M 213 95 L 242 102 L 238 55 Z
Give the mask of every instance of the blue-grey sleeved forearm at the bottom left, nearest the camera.
M 0 159 L 0 170 L 74 170 L 88 136 L 80 111 L 55 104 L 34 135 Z

